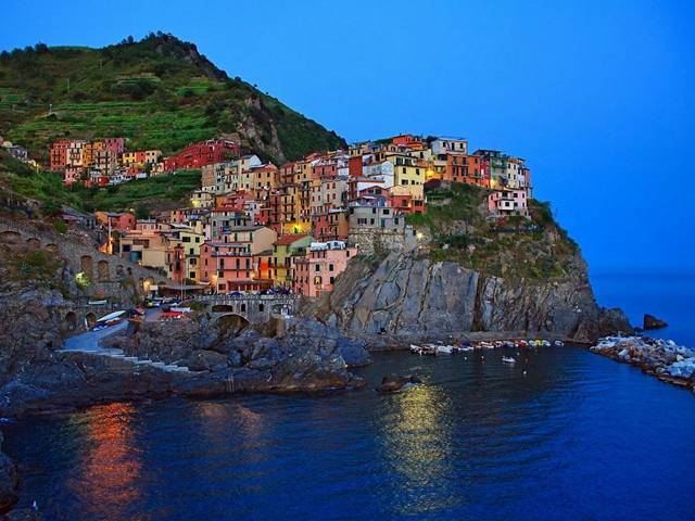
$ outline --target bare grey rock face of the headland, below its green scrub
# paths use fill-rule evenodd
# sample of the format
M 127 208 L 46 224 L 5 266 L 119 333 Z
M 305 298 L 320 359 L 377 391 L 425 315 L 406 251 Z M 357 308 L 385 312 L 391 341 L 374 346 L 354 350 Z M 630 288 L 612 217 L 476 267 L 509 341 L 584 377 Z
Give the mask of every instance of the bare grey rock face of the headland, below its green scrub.
M 631 331 L 621 312 L 596 305 L 579 255 L 571 276 L 546 282 L 399 253 L 376 268 L 355 260 L 337 282 L 330 312 L 348 333 L 528 332 L 586 341 Z

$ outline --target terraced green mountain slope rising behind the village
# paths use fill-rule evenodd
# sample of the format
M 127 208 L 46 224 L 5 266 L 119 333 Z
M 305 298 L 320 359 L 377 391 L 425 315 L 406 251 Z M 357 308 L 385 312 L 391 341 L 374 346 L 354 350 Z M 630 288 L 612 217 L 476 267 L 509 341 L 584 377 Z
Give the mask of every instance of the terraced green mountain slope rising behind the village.
M 238 137 L 282 163 L 344 140 L 229 78 L 194 45 L 170 35 L 103 49 L 36 45 L 0 54 L 0 135 L 46 160 L 63 138 L 128 138 L 129 149 L 170 154 L 197 140 Z

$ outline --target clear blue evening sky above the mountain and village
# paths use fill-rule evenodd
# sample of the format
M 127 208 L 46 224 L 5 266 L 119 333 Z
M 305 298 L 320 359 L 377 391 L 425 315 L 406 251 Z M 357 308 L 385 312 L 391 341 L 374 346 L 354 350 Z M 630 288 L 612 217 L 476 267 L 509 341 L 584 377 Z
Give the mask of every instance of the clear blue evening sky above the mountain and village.
M 173 33 L 349 141 L 465 136 L 526 157 L 594 269 L 695 269 L 695 2 L 58 5 L 5 0 L 21 30 L 0 48 Z

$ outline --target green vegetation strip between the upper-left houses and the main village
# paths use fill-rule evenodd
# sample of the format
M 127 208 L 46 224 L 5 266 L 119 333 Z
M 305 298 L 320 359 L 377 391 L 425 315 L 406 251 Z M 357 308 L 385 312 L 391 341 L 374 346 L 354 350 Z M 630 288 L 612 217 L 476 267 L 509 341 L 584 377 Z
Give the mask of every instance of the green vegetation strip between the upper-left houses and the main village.
M 103 188 L 67 188 L 61 175 L 37 173 L 0 152 L 0 189 L 5 209 L 29 207 L 45 217 L 56 215 L 63 206 L 87 212 L 131 209 L 139 217 L 146 217 L 150 211 L 188 206 L 191 193 L 198 188 L 200 170 L 182 170 L 174 176 L 150 177 Z

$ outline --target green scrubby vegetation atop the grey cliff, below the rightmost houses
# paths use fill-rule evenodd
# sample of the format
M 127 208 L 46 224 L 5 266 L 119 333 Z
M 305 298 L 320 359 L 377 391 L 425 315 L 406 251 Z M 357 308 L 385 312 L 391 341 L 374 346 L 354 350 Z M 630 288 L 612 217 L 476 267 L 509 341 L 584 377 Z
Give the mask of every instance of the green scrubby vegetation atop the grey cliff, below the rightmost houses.
M 427 213 L 408 221 L 429 229 L 429 258 L 500 277 L 546 280 L 571 274 L 578 246 L 555 223 L 549 203 L 529 201 L 530 219 L 490 220 L 489 193 L 458 183 L 428 191 Z

